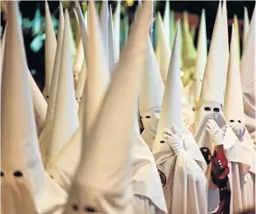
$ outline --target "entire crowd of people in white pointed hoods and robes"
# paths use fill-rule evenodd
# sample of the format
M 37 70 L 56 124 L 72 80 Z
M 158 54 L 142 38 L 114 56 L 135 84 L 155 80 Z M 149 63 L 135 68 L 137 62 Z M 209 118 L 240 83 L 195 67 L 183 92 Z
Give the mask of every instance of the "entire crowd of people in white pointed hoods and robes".
M 41 93 L 26 63 L 18 2 L 7 2 L 2 214 L 254 210 L 255 10 L 250 23 L 244 19 L 240 59 L 235 25 L 229 43 L 226 1 L 219 2 L 208 53 L 204 10 L 197 49 L 191 34 L 181 41 L 189 25 L 180 20 L 170 43 L 167 1 L 164 19 L 160 13 L 155 19 L 155 52 L 153 3 L 139 2 L 119 54 L 120 2 L 114 13 L 102 2 L 100 16 L 95 2 L 88 5 L 86 14 L 78 2 L 73 10 L 81 40 L 72 61 L 68 12 L 60 2 L 56 39 L 45 2 Z M 187 59 L 181 57 L 184 48 Z M 181 75 L 187 72 L 193 80 L 184 86 Z

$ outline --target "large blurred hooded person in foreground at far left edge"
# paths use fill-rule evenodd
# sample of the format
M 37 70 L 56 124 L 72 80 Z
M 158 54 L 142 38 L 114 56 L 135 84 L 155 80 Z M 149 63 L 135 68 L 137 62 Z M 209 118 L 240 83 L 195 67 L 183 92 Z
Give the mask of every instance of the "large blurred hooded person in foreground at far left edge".
M 1 102 L 2 213 L 61 213 L 67 195 L 41 162 L 17 2 L 8 3 L 7 20 Z

